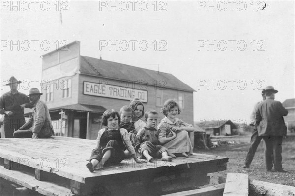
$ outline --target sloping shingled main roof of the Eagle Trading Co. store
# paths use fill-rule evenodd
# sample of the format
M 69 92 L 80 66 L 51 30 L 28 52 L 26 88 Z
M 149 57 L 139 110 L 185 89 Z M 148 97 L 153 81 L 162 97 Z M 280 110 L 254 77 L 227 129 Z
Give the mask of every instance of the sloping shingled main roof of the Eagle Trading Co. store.
M 155 85 L 155 80 L 159 87 L 172 88 L 194 92 L 195 90 L 184 84 L 172 74 L 153 71 L 140 67 L 125 65 L 117 62 L 101 60 L 88 56 L 81 56 L 81 74 L 100 76 L 102 78 L 116 79 L 121 81 L 143 81 L 146 80 L 149 85 Z M 160 81 L 166 81 L 164 86 L 161 86 Z M 162 83 L 164 84 L 164 83 Z

